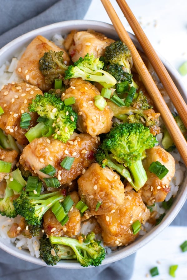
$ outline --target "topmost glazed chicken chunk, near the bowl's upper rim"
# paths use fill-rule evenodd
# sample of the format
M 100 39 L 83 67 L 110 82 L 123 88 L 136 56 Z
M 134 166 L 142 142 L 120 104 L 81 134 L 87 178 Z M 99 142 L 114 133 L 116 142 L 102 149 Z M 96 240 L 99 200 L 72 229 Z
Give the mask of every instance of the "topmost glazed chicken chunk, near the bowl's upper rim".
M 96 58 L 104 55 L 106 47 L 114 42 L 102 33 L 93 30 L 73 30 L 65 39 L 65 48 L 69 51 L 73 62 L 86 54 L 93 54 Z

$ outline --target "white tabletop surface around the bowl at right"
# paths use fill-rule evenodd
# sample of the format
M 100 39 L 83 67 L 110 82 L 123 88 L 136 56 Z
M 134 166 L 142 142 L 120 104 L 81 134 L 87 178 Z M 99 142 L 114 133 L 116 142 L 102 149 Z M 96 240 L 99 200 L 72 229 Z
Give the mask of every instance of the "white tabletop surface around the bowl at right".
M 127 31 L 132 32 L 117 2 L 111 0 Z M 153 47 L 177 70 L 187 60 L 187 1 L 186 0 L 127 0 Z M 100 0 L 93 0 L 84 19 L 111 23 Z M 187 87 L 187 75 L 182 77 Z M 169 226 L 136 255 L 132 280 L 187 279 L 187 252 L 180 244 L 187 240 L 187 227 Z M 169 266 L 178 264 L 172 278 Z M 151 277 L 149 269 L 157 266 L 159 275 Z M 117 279 L 116 279 L 117 280 Z M 125 279 L 124 279 L 125 280 Z

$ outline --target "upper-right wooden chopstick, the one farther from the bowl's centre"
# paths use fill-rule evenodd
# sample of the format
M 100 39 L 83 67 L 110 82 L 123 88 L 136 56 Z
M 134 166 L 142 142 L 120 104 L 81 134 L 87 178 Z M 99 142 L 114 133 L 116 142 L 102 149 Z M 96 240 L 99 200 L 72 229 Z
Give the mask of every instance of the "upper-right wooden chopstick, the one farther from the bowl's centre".
M 127 5 L 127 2 L 125 0 L 116 0 L 116 2 L 121 8 L 135 36 L 137 37 L 138 42 L 144 50 L 147 58 L 151 62 L 156 74 L 158 75 L 162 85 L 165 88 L 165 91 L 170 97 L 170 100 L 174 104 L 178 114 L 180 115 L 183 123 L 185 124 L 185 127 L 187 128 L 187 104 L 180 95 L 180 92 L 175 86 L 161 59 L 156 54 L 156 51 L 153 49 L 150 41 L 146 37 L 146 34 L 142 30 L 136 17 L 133 15 L 131 9 Z

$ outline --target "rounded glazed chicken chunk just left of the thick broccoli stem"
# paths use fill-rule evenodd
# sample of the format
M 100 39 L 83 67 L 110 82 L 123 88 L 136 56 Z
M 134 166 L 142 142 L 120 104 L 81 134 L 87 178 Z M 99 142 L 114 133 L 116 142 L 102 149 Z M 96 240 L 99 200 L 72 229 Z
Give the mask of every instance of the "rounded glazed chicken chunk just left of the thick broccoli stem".
M 113 212 L 124 203 L 124 185 L 112 169 L 92 165 L 78 179 L 79 196 L 92 215 Z

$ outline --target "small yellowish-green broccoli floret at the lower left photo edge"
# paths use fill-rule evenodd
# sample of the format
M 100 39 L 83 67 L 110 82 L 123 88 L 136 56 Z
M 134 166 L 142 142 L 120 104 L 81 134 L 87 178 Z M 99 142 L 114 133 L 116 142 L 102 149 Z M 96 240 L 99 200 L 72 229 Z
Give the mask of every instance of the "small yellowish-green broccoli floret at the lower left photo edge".
M 15 218 L 17 212 L 13 205 L 13 199 L 15 198 L 14 191 L 8 186 L 5 189 L 4 198 L 0 198 L 0 214 L 9 218 Z

